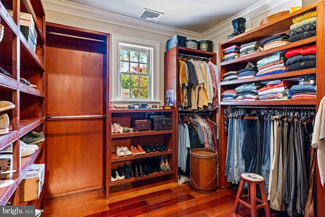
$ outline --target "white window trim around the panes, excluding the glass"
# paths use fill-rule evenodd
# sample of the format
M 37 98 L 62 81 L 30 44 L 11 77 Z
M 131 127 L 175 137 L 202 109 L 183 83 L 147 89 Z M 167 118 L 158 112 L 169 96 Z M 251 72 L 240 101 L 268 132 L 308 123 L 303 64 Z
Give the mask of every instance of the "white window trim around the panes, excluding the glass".
M 121 36 L 121 35 L 111 35 L 111 68 L 110 68 L 110 99 L 111 103 L 114 106 L 126 106 L 129 103 L 146 103 L 146 104 L 154 104 L 159 103 L 159 42 L 138 39 L 133 37 Z M 151 72 L 151 99 L 152 100 L 139 100 L 139 99 L 126 99 L 119 100 L 118 99 L 118 64 L 119 64 L 119 50 L 118 43 L 129 43 L 136 44 L 140 46 L 152 47 L 153 48 L 153 61 L 152 61 L 152 72 Z

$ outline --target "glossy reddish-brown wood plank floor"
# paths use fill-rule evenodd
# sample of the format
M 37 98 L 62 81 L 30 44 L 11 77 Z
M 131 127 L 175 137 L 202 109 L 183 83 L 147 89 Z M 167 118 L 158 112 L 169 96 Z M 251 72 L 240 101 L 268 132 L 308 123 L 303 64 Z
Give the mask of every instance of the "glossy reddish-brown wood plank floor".
M 193 191 L 189 182 L 178 184 L 170 180 L 121 188 L 111 190 L 108 200 L 101 189 L 46 198 L 45 216 L 250 216 L 249 209 L 242 205 L 239 213 L 233 215 L 237 193 L 233 189 L 203 194 Z M 259 210 L 258 216 L 265 216 L 264 210 Z

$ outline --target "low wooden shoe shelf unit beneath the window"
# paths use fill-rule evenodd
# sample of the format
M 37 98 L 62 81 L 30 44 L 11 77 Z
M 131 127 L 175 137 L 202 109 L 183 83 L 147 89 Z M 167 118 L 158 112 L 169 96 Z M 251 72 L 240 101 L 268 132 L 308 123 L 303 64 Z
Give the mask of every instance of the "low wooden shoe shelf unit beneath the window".
M 173 120 L 171 130 L 140 130 L 129 131 L 123 133 L 111 133 L 111 123 L 118 122 L 122 127 L 131 127 L 134 119 L 147 119 L 148 115 L 153 113 L 165 114 L 166 117 L 171 117 Z M 148 109 L 148 110 L 133 110 L 133 109 L 116 109 L 108 110 L 107 113 L 107 145 L 104 147 L 106 157 L 104 157 L 104 192 L 106 198 L 109 198 L 110 190 L 117 185 L 143 181 L 145 179 L 152 179 L 155 177 L 167 177 L 170 180 L 177 181 L 177 137 L 176 137 L 176 116 L 173 109 Z M 117 147 L 126 146 L 131 150 L 131 145 L 134 147 L 149 144 L 154 147 L 155 144 L 163 143 L 167 147 L 164 151 L 146 152 L 145 154 L 132 154 L 129 156 L 117 156 L 115 150 Z M 125 164 L 131 165 L 134 169 L 135 165 L 140 165 L 141 162 L 146 161 L 151 157 L 158 157 L 168 159 L 171 167 L 170 171 L 153 172 L 148 175 L 124 178 L 122 180 L 111 181 L 112 169 L 123 167 Z

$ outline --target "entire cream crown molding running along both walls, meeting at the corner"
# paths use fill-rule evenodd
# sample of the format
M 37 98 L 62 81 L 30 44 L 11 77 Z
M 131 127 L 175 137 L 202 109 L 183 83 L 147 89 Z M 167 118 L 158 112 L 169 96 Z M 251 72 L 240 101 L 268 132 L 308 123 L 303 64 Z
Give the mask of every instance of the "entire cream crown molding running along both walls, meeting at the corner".
M 96 21 L 106 22 L 115 25 L 121 25 L 129 28 L 135 28 L 139 30 L 144 30 L 147 32 L 174 36 L 181 35 L 194 40 L 205 40 L 211 39 L 223 32 L 226 32 L 233 28 L 231 20 L 237 17 L 245 17 L 246 21 L 266 13 L 267 11 L 276 8 L 289 0 L 263 0 L 251 7 L 245 9 L 244 11 L 232 16 L 229 19 L 215 25 L 206 32 L 200 34 L 192 31 L 188 31 L 181 28 L 175 28 L 167 25 L 162 25 L 159 23 L 151 23 L 143 20 L 139 20 L 133 17 L 124 16 L 117 13 L 108 12 L 102 9 L 92 8 L 88 6 L 83 6 L 76 3 L 67 2 L 64 0 L 43 0 L 43 6 L 46 10 L 55 11 L 59 13 L 74 15 L 86 19 L 92 19 Z

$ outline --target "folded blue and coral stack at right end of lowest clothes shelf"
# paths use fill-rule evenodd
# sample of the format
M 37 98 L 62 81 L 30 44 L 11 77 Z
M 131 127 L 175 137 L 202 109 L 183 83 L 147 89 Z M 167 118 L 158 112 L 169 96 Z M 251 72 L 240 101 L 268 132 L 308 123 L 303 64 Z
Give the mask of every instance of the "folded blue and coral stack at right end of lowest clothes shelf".
M 293 100 L 316 100 L 316 77 L 307 75 L 298 78 L 299 84 L 291 86 Z

